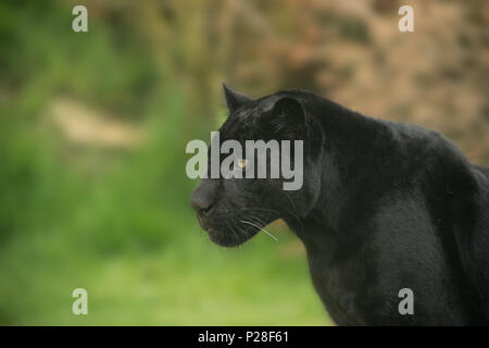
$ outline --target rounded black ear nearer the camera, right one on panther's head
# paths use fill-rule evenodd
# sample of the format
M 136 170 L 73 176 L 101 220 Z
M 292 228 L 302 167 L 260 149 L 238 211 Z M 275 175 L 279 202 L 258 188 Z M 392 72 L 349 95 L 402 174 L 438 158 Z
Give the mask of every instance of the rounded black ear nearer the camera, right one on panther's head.
M 300 101 L 292 97 L 275 102 L 268 122 L 280 138 L 296 140 L 305 136 L 305 111 Z

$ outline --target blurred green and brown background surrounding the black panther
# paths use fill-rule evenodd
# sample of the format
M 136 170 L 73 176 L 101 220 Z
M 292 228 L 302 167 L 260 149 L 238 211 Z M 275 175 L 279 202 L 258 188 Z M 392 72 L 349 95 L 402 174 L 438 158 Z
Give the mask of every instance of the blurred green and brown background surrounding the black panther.
M 185 146 L 227 82 L 422 124 L 488 165 L 488 2 L 409 3 L 402 34 L 396 0 L 1 1 L 0 324 L 331 324 L 283 223 L 237 249 L 200 231 Z

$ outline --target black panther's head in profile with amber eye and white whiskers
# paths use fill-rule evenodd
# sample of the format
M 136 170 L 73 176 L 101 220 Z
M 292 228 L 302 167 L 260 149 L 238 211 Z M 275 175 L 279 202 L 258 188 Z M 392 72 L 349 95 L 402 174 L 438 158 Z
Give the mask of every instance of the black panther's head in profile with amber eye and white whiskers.
M 280 91 L 256 100 L 231 90 L 226 85 L 224 96 L 229 116 L 218 129 L 220 142 L 234 139 L 242 149 L 246 140 L 302 140 L 303 182 L 300 189 L 285 190 L 286 178 L 280 170 L 278 177 L 265 178 L 202 178 L 191 197 L 191 206 L 197 212 L 201 227 L 208 232 L 212 241 L 225 247 L 241 245 L 264 226 L 277 219 L 293 223 L 304 217 L 316 203 L 321 190 L 321 165 L 318 158 L 323 148 L 323 132 L 317 122 L 309 115 L 306 104 L 309 94 L 301 91 Z M 281 142 L 280 142 L 281 144 Z M 211 166 L 211 153 L 217 146 L 211 141 L 208 153 L 208 166 Z M 244 152 L 244 150 L 243 150 Z M 298 164 L 293 147 L 291 167 Z M 275 153 L 276 154 L 276 153 Z M 271 165 L 273 153 L 266 152 L 266 163 Z M 224 160 L 220 154 L 220 163 Z M 260 163 L 250 163 L 248 153 L 234 161 L 230 171 L 258 171 Z M 251 165 L 253 164 L 253 165 Z M 296 169 L 296 167 L 294 167 Z M 269 166 L 268 166 L 269 170 Z M 267 170 L 267 174 L 269 171 Z M 254 173 L 256 174 L 256 173 Z

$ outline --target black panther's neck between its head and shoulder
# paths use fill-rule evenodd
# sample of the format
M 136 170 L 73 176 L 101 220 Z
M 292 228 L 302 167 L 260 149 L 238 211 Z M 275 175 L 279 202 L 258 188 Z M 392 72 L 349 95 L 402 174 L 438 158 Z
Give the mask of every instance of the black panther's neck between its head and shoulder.
M 312 111 L 325 134 L 321 194 L 310 214 L 301 221 L 302 226 L 294 229 L 305 245 L 330 246 L 333 239 L 340 243 L 339 239 L 352 238 L 343 231 L 367 217 L 379 198 L 376 189 L 383 190 L 373 184 L 381 182 L 385 172 L 381 156 L 396 151 L 397 147 L 386 122 L 327 100 Z

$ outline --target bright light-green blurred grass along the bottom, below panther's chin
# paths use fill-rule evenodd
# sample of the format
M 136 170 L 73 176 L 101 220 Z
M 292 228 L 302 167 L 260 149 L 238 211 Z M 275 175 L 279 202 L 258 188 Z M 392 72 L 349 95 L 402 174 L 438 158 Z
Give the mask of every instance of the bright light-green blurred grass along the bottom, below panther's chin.
M 277 260 L 276 246 L 256 245 L 272 243 L 265 238 L 233 254 L 198 238 L 187 250 L 114 258 L 15 252 L 18 261 L 9 258 L 1 270 L 0 295 L 9 301 L 0 318 L 21 325 L 327 324 L 303 258 Z M 71 312 L 77 287 L 88 290 L 88 315 Z

